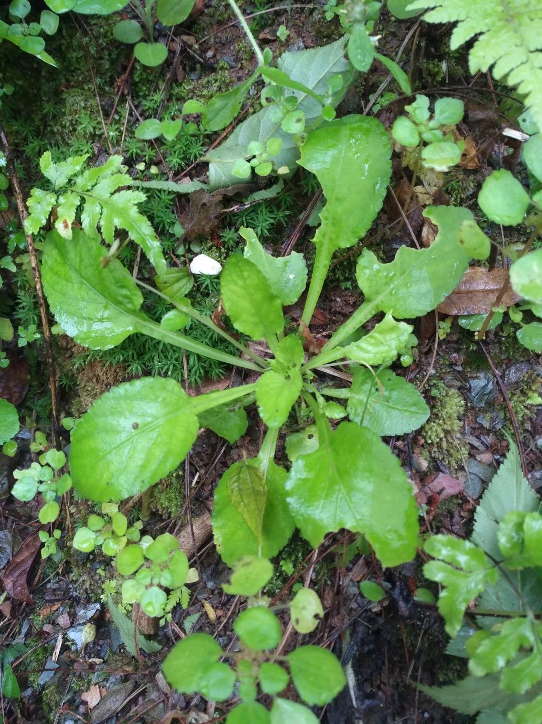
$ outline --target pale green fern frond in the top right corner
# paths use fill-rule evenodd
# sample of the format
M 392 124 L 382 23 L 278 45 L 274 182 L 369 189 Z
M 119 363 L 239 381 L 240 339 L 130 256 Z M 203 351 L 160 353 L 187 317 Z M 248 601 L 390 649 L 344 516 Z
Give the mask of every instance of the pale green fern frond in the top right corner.
M 540 0 L 414 0 L 408 9 L 428 9 L 428 22 L 457 22 L 452 50 L 478 35 L 469 54 L 471 73 L 492 68 L 525 96 L 542 130 L 542 4 Z

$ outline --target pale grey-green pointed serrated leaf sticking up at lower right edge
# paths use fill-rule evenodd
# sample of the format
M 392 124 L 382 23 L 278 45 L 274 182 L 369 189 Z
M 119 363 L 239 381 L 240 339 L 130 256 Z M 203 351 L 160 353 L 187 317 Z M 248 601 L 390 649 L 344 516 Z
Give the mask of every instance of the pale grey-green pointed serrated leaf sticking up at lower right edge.
M 475 510 L 471 540 L 494 560 L 502 560 L 497 541 L 499 523 L 512 510 L 538 512 L 540 500 L 522 473 L 520 454 L 510 443 L 508 455 L 491 479 L 488 489 Z

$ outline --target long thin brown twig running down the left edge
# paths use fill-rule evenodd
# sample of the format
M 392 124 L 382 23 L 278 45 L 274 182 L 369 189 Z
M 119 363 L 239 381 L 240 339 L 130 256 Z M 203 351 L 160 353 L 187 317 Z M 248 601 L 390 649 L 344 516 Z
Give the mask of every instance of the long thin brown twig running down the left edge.
M 20 224 L 23 230 L 25 230 L 25 221 L 27 219 L 27 212 L 25 207 L 25 201 L 22 198 L 22 191 L 19 183 L 19 177 L 15 170 L 14 159 L 12 153 L 9 150 L 9 143 L 4 132 L 4 126 L 0 122 L 0 138 L 2 148 L 6 154 L 7 166 L 9 169 L 9 180 L 12 185 L 15 202 L 17 203 L 17 211 L 19 213 Z M 41 285 L 41 275 L 38 266 L 38 255 L 36 254 L 36 247 L 34 246 L 34 237 L 25 230 L 26 243 L 28 244 L 28 254 L 30 256 L 30 269 L 32 269 L 32 277 L 34 284 L 36 285 L 36 296 L 38 297 L 38 305 L 40 308 L 41 326 L 43 327 L 43 342 L 45 343 L 45 357 L 47 365 L 47 375 L 49 377 L 49 388 L 51 390 L 51 412 L 52 412 L 52 423 L 53 423 L 53 440 L 54 446 L 60 447 L 60 438 L 58 434 L 58 411 L 57 411 L 57 382 L 54 374 L 54 360 L 53 350 L 51 347 L 51 328 L 49 327 L 49 318 L 47 316 L 47 305 L 45 295 L 43 294 L 43 286 Z

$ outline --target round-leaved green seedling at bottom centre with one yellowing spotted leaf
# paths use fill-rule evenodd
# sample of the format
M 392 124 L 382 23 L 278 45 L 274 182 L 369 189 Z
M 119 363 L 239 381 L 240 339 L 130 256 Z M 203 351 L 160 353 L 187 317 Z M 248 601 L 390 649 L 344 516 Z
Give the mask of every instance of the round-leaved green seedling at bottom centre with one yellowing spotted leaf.
M 167 654 L 164 675 L 178 691 L 201 691 L 217 702 L 228 699 L 238 686 L 241 703 L 228 712 L 228 724 L 241 722 L 271 723 L 296 721 L 316 724 L 317 717 L 302 704 L 278 696 L 291 679 L 300 698 L 309 706 L 326 704 L 343 689 L 346 678 L 338 660 L 326 649 L 302 646 L 287 656 L 278 656 L 282 636 L 280 621 L 259 593 L 270 581 L 272 565 L 262 557 L 246 556 L 238 560 L 225 592 L 249 597 L 249 607 L 233 623 L 240 650 L 231 655 L 232 664 L 221 663 L 219 644 L 207 633 L 187 636 Z M 316 628 L 323 608 L 317 594 L 301 589 L 292 599 L 290 616 L 293 628 L 309 633 Z M 285 666 L 289 668 L 288 671 Z M 257 702 L 258 688 L 272 696 L 270 712 Z

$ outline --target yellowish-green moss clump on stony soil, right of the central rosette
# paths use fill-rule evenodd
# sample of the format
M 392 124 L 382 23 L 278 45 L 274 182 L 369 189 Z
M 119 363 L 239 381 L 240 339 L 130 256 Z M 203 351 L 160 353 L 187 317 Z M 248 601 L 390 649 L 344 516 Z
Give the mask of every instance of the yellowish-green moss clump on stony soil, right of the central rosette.
M 465 403 L 457 390 L 441 382 L 431 388 L 431 416 L 420 430 L 425 452 L 431 460 L 440 460 L 452 472 L 464 463 L 467 443 L 459 436 Z

